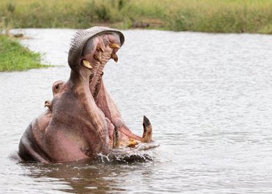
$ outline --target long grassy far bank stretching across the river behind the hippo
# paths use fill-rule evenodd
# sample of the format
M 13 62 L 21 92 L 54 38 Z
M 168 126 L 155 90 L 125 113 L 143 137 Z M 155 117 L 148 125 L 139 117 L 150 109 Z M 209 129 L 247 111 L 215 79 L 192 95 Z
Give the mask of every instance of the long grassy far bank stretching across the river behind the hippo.
M 271 0 L 2 0 L 0 17 L 15 28 L 147 24 L 167 30 L 272 33 Z

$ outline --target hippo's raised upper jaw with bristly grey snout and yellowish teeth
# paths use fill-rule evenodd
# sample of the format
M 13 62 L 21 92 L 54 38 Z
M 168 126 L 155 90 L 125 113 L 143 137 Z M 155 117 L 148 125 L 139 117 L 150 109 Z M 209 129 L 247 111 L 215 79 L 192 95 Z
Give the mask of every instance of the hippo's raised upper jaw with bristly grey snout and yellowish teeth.
M 118 61 L 117 51 L 124 44 L 124 35 L 111 28 L 93 27 L 78 30 L 69 50 L 69 67 L 79 73 L 81 67 L 90 70 L 90 91 L 94 95 L 95 87 L 103 75 L 108 60 Z M 85 71 L 85 69 L 83 69 Z

